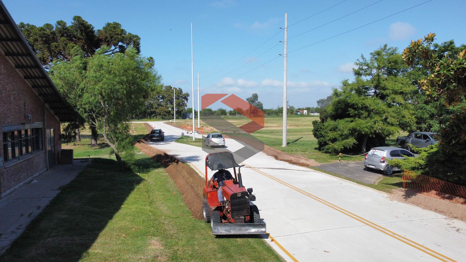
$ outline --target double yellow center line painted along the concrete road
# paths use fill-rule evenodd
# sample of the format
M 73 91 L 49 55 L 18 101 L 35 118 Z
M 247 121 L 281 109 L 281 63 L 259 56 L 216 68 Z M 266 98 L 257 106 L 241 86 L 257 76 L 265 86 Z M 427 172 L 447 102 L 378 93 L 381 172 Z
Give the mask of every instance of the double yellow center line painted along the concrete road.
M 242 164 L 244 164 L 244 163 L 242 163 Z M 274 181 L 279 182 L 280 184 L 282 184 L 284 186 L 287 186 L 287 187 L 289 187 L 289 188 L 291 188 L 291 189 L 293 189 L 293 190 L 295 190 L 295 191 L 297 191 L 299 193 L 302 193 L 303 195 L 306 195 L 306 196 L 308 196 L 308 197 L 310 197 L 310 198 L 312 198 L 312 199 L 314 199 L 314 200 L 316 200 L 316 201 L 318 201 L 318 202 L 320 202 L 320 203 L 322 203 L 322 204 L 324 204 L 324 205 L 326 205 L 328 207 L 331 207 L 331 208 L 335 209 L 336 211 L 338 211 L 338 212 L 340 212 L 342 214 L 345 214 L 345 215 L 347 215 L 347 216 L 349 216 L 349 217 L 351 217 L 351 218 L 353 218 L 353 219 L 355 219 L 355 220 L 357 220 L 357 221 L 359 221 L 359 222 L 361 222 L 361 223 L 363 223 L 363 224 L 365 224 L 365 225 L 367 225 L 367 226 L 369 226 L 371 228 L 374 228 L 374 229 L 376 229 L 376 230 L 378 230 L 378 231 L 380 231 L 380 232 L 382 232 L 382 233 L 384 233 L 386 235 L 389 235 L 389 236 L 393 237 L 394 239 L 396 239 L 398 241 L 401 241 L 401 242 L 403 242 L 403 243 L 405 243 L 405 244 L 407 244 L 407 245 L 409 245 L 409 246 L 411 246 L 413 248 L 416 248 L 416 249 L 418 249 L 418 250 L 420 250 L 420 251 L 422 251 L 422 252 L 424 252 L 424 253 L 426 253 L 428 255 L 431 255 L 431 256 L 439 259 L 440 261 L 445 261 L 445 262 L 455 261 L 455 260 L 453 260 L 453 259 L 451 259 L 451 258 L 449 258 L 449 257 L 447 257 L 445 255 L 442 255 L 442 254 L 440 254 L 440 253 L 438 253 L 438 252 L 436 252 L 436 251 L 434 251 L 434 250 L 432 250 L 430 248 L 425 247 L 422 244 L 419 244 L 419 243 L 417 243 L 415 241 L 412 241 L 412 240 L 410 240 L 410 239 L 408 239 L 408 238 L 406 238 L 406 237 L 404 237 L 402 235 L 399 235 L 397 233 L 392 232 L 391 230 L 389 230 L 387 228 L 381 227 L 380 225 L 377 225 L 374 222 L 371 222 L 371 221 L 369 221 L 367 219 L 364 219 L 364 218 L 362 218 L 362 217 L 360 217 L 360 216 L 358 216 L 356 214 L 353 214 L 353 213 L 343 209 L 342 207 L 338 207 L 338 206 L 330 203 L 327 200 L 323 200 L 323 199 L 321 199 L 321 198 L 319 198 L 319 197 L 317 197 L 317 196 L 315 196 L 315 195 L 313 195 L 311 193 L 308 193 L 308 192 L 306 192 L 306 191 L 304 191 L 304 190 L 302 190 L 302 189 L 300 189 L 300 188 L 298 188 L 296 186 L 288 184 L 287 182 L 285 182 L 285 181 L 283 181 L 281 179 L 275 178 L 274 176 L 271 176 L 271 175 L 269 175 L 269 174 L 267 174 L 265 172 L 262 172 L 262 171 L 254 168 L 252 166 L 249 166 L 249 165 L 246 165 L 246 166 L 249 167 L 250 169 L 252 169 L 252 170 L 254 170 L 254 171 L 256 171 L 256 172 L 258 172 L 258 173 L 260 173 L 260 174 L 262 174 L 262 175 L 264 175 L 264 176 L 266 176 L 268 178 L 270 178 L 270 179 L 273 179 Z

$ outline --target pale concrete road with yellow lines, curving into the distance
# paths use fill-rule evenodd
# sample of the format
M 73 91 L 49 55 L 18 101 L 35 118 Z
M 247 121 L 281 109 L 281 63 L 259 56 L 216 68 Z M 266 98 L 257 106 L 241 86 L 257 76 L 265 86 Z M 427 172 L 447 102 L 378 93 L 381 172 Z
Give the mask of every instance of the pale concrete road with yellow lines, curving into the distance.
M 173 142 L 183 130 L 148 123 L 165 131 L 165 141 L 151 146 L 204 176 L 207 153 Z M 232 151 L 242 146 L 232 139 L 226 145 Z M 243 183 L 254 188 L 266 241 L 287 261 L 466 261 L 465 222 L 262 152 L 244 164 Z

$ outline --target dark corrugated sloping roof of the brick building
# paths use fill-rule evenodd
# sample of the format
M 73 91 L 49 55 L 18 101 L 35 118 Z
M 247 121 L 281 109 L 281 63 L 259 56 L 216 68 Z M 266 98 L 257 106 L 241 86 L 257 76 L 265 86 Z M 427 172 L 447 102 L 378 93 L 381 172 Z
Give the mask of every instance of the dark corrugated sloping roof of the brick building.
M 0 7 L 0 51 L 61 122 L 82 119 L 57 90 L 1 0 Z

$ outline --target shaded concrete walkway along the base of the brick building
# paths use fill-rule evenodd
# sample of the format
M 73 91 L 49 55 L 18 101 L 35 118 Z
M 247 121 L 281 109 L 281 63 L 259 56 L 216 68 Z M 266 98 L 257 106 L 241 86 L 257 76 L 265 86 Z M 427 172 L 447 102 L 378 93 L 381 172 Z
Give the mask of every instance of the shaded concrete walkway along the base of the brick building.
M 88 162 L 57 165 L 0 200 L 0 255 Z

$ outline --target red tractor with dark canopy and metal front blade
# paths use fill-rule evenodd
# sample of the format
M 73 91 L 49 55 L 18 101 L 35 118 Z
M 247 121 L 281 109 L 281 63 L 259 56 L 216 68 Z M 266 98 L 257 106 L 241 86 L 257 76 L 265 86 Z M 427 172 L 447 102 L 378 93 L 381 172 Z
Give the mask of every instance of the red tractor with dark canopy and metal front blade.
M 245 188 L 240 169 L 231 152 L 217 152 L 206 156 L 206 187 L 203 188 L 204 220 L 211 223 L 212 234 L 266 234 L 266 224 L 260 222 L 259 209 L 252 201 L 256 197 L 252 188 Z M 207 176 L 211 171 L 233 168 L 234 178 L 223 180 L 223 201 L 219 201 L 219 183 L 211 183 Z M 236 173 L 238 167 L 238 173 Z

